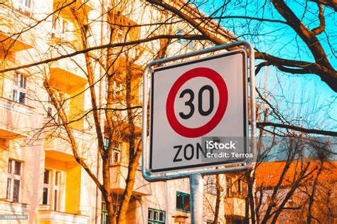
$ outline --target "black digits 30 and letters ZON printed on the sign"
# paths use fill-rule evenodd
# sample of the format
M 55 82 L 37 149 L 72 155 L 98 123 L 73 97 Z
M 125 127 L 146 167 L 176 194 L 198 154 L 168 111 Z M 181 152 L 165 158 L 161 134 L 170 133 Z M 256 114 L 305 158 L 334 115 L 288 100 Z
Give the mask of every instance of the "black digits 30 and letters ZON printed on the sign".
M 209 91 L 210 94 L 210 107 L 208 108 L 208 110 L 203 110 L 203 92 L 205 92 L 205 90 Z M 188 114 L 183 114 L 183 112 L 179 113 L 179 116 L 182 119 L 189 119 L 193 116 L 194 111 L 195 111 L 195 107 L 193 105 L 193 100 L 194 100 L 194 92 L 191 89 L 187 89 L 187 90 L 183 90 L 181 92 L 181 94 L 179 95 L 180 98 L 184 97 L 184 95 L 190 95 L 190 98 L 188 99 L 188 101 L 185 102 L 185 105 L 190 107 L 190 112 L 188 112 Z M 211 87 L 210 85 L 204 85 L 203 87 L 200 88 L 199 92 L 198 92 L 198 112 L 203 115 L 203 116 L 208 116 L 211 112 L 213 112 L 214 109 L 214 90 L 213 87 Z M 188 148 L 191 149 L 191 153 L 188 156 Z M 174 156 L 173 158 L 173 162 L 178 162 L 178 161 L 183 161 L 183 159 L 178 158 L 181 149 L 183 149 L 183 158 L 186 160 L 191 160 L 194 157 L 194 146 L 193 144 L 186 144 L 186 146 L 182 146 L 182 145 L 178 145 L 178 146 L 173 146 L 173 149 L 178 149 L 176 151 L 176 156 Z M 204 157 L 206 157 L 207 154 L 207 149 L 203 149 L 203 147 L 197 143 L 196 144 L 196 159 L 199 159 L 199 151 L 201 152 L 201 154 L 203 154 Z

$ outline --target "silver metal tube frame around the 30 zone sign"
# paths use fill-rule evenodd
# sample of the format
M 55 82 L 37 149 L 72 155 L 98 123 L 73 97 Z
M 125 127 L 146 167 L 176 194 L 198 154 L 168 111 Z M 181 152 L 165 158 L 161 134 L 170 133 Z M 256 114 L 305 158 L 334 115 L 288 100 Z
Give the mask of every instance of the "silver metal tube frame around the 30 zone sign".
M 143 73 L 143 112 L 142 112 L 142 157 L 141 157 L 141 172 L 143 174 L 143 177 L 146 179 L 146 181 L 168 181 L 176 178 L 185 178 L 190 176 L 192 178 L 193 176 L 203 176 L 203 175 L 213 175 L 213 174 L 225 174 L 225 173 L 232 173 L 232 172 L 238 172 L 238 171 L 244 171 L 247 169 L 250 169 L 252 167 L 252 159 L 248 159 L 244 164 L 240 164 L 241 166 L 235 166 L 235 167 L 223 167 L 220 169 L 208 169 L 208 170 L 199 170 L 199 171 L 191 171 L 191 172 L 174 172 L 171 171 L 171 174 L 166 173 L 160 173 L 160 174 L 154 174 L 149 170 L 149 139 L 147 137 L 147 114 L 148 114 L 148 103 L 147 103 L 147 92 L 148 92 L 148 73 L 150 74 L 150 78 L 152 77 L 154 73 L 153 66 L 154 65 L 161 65 L 163 63 L 172 62 L 175 60 L 180 60 L 183 58 L 190 58 L 196 55 L 203 55 L 205 53 L 212 53 L 218 50 L 226 50 L 228 48 L 235 48 L 242 46 L 242 50 L 248 50 L 248 59 L 249 59 L 249 77 L 250 77 L 250 115 L 251 115 L 251 121 L 250 121 L 250 137 L 251 137 L 251 146 L 249 147 L 250 153 L 253 154 L 253 157 L 255 155 L 256 151 L 256 142 L 255 142 L 255 136 L 256 136 L 256 112 L 255 112 L 255 53 L 254 48 L 251 43 L 247 41 L 236 41 L 232 43 L 226 43 L 220 46 L 215 46 L 212 48 L 206 48 L 203 50 L 196 50 L 191 53 L 186 53 L 182 55 L 176 55 L 169 58 L 162 58 L 159 60 L 153 60 L 148 65 L 146 65 Z M 246 73 L 248 76 L 248 74 Z M 151 93 L 149 93 L 151 94 Z M 225 164 L 225 165 L 219 165 L 219 166 L 229 166 L 232 164 Z M 196 168 L 198 169 L 198 168 Z M 200 169 L 203 169 L 203 167 L 200 167 Z M 193 199 L 193 198 L 192 198 Z

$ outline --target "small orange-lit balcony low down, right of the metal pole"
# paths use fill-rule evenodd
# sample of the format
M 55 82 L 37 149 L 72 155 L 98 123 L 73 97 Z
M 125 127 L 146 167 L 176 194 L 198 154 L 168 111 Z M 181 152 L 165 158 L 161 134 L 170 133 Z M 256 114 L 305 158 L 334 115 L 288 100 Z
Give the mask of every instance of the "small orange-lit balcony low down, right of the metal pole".
M 225 216 L 230 218 L 245 217 L 245 199 L 225 198 Z

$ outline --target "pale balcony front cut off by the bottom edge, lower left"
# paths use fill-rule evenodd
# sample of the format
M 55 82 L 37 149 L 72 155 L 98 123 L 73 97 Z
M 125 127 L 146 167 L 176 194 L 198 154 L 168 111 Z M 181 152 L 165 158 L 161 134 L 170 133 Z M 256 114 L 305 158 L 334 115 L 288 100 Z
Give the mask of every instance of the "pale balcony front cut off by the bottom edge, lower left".
M 40 222 L 48 223 L 87 223 L 89 216 L 63 213 L 55 210 L 38 210 Z

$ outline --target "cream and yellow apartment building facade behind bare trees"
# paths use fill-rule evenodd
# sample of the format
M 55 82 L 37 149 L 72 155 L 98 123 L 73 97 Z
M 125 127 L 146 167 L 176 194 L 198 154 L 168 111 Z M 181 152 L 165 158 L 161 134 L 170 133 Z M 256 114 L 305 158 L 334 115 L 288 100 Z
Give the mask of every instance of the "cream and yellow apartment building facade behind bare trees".
M 192 6 L 190 9 L 186 13 L 200 15 Z M 84 55 L 88 51 L 81 50 L 137 41 L 148 38 L 150 33 L 193 35 L 193 28 L 179 22 L 137 26 L 169 21 L 169 14 L 163 9 L 142 1 L 119 5 L 113 1 L 7 0 L 1 1 L 0 17 L 0 68 L 4 70 L 0 74 L 0 215 L 28 215 L 27 220 L 0 223 L 105 223 L 107 210 L 100 191 L 78 163 L 85 161 L 92 173 L 102 178 L 95 119 L 90 114 L 90 83 L 95 83 L 97 105 L 101 107 L 107 102 L 105 75 L 116 73 L 114 107 L 122 108 L 129 70 L 132 105 L 139 107 L 146 63 L 160 57 L 159 52 L 174 55 L 205 48 L 210 43 L 156 40 L 133 48 L 121 45 L 88 50 L 95 58 L 90 63 L 90 80 Z M 210 23 L 208 27 L 215 25 Z M 82 28 L 90 29 L 91 35 L 84 39 Z M 70 54 L 71 57 L 65 56 Z M 105 68 L 109 60 L 117 63 Z M 7 68 L 15 69 L 6 71 Z M 114 114 L 118 132 L 107 128 L 105 113 L 100 114 L 106 129 L 105 144 L 111 141 L 109 134 L 117 136 L 112 143 L 109 168 L 115 210 L 119 209 L 119 198 L 126 186 L 129 162 L 129 130 L 123 124 L 127 112 L 121 111 Z M 136 114 L 134 132 L 139 132 L 140 109 L 132 113 Z M 60 122 L 68 123 L 69 129 Z M 72 133 L 73 142 L 68 132 Z M 240 175 L 219 178 L 217 186 L 215 176 L 204 177 L 204 220 L 200 223 L 213 223 L 218 189 L 218 222 L 242 223 L 246 213 L 244 179 Z M 127 223 L 190 222 L 188 179 L 148 183 L 138 168 Z

